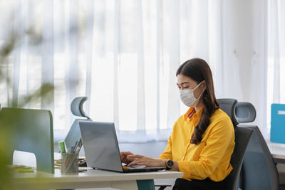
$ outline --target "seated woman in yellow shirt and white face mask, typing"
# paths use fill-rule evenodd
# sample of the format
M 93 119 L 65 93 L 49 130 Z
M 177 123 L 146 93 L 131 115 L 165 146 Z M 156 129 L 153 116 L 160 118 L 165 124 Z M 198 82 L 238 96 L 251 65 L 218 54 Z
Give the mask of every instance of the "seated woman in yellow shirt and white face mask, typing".
M 190 108 L 175 122 L 165 152 L 160 159 L 121 152 L 122 162 L 182 171 L 173 189 L 226 189 L 234 127 L 219 109 L 209 65 L 193 58 L 180 65 L 176 76 L 180 98 Z

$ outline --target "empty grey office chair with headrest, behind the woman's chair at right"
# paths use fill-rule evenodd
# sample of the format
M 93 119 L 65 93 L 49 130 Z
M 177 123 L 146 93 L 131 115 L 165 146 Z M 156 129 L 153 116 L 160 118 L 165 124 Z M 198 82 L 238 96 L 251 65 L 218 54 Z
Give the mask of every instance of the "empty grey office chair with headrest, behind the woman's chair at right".
M 249 102 L 239 102 L 235 110 L 239 122 L 253 122 L 256 110 Z M 242 164 L 242 190 L 278 190 L 284 189 L 285 184 L 279 184 L 279 174 L 276 163 L 267 147 L 259 127 L 239 125 L 254 130 Z

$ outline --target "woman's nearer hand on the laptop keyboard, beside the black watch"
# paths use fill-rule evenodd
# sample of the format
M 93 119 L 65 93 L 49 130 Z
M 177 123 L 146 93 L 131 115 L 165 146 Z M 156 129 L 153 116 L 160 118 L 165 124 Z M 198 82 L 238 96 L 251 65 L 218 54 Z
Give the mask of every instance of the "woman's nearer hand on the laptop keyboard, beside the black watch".
M 130 164 L 128 164 L 128 166 L 145 165 L 147 167 L 165 167 L 166 162 L 165 159 L 155 159 L 138 154 L 128 155 L 128 160 L 132 161 Z

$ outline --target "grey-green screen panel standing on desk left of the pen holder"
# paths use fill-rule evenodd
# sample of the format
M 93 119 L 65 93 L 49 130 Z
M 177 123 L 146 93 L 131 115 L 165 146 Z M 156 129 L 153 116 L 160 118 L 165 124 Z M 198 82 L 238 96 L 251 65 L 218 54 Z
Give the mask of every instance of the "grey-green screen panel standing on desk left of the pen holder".
M 36 169 L 54 173 L 53 118 L 49 110 L 31 110 L 4 107 L 0 112 L 0 127 L 11 129 L 9 157 L 14 150 L 32 152 L 36 156 Z M 4 125 L 3 125 L 4 124 Z

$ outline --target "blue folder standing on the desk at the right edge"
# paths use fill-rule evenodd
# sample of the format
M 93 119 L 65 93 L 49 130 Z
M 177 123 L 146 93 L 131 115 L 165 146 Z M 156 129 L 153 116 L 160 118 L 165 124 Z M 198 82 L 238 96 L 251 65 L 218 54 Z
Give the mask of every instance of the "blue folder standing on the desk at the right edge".
M 271 105 L 270 141 L 285 144 L 285 105 Z

